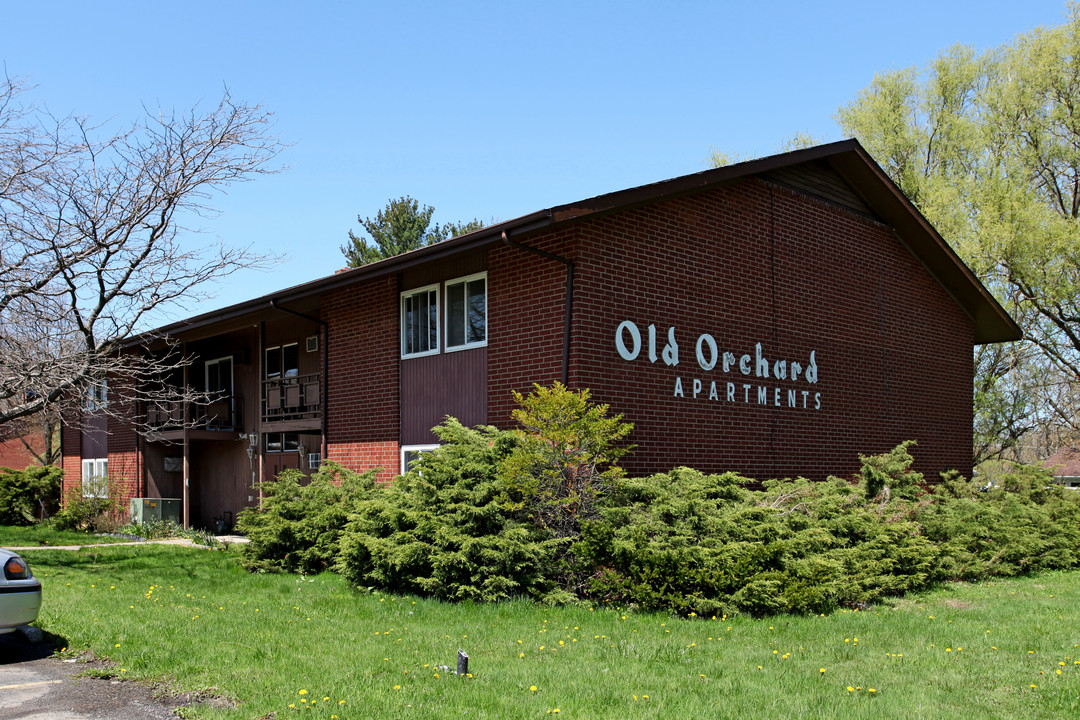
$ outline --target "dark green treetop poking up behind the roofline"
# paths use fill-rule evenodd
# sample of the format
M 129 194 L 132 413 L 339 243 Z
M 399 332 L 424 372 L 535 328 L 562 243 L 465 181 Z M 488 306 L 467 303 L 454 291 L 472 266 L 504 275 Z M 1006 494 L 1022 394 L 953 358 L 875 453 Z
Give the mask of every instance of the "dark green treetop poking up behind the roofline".
M 431 205 L 421 207 L 419 202 L 405 195 L 388 201 L 387 206 L 374 218 L 357 215 L 356 220 L 369 237 L 357 236 L 352 230 L 349 231 L 349 242 L 341 246 L 349 267 L 359 268 L 384 260 L 484 227 L 481 220 L 473 219 L 444 226 L 436 223 L 429 228 L 434 212 L 435 208 Z

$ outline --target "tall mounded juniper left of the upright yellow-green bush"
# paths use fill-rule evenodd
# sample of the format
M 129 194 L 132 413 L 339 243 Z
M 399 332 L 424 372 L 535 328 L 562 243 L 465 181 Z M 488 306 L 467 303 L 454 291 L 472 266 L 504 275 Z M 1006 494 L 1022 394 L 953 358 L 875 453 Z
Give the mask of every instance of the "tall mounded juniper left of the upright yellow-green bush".
M 442 446 L 350 516 L 340 572 L 361 587 L 448 600 L 550 596 L 557 543 L 519 520 L 496 479 L 517 437 L 453 418 L 434 432 Z

